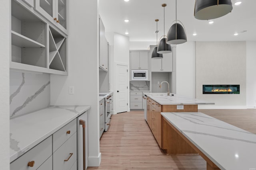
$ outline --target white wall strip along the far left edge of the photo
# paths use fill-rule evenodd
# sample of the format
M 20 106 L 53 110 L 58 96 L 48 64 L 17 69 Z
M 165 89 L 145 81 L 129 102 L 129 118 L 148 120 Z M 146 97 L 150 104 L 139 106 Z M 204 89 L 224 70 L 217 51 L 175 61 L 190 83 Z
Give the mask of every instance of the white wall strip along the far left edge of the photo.
M 0 170 L 10 169 L 9 63 L 10 63 L 10 2 L 1 1 L 0 18 Z

